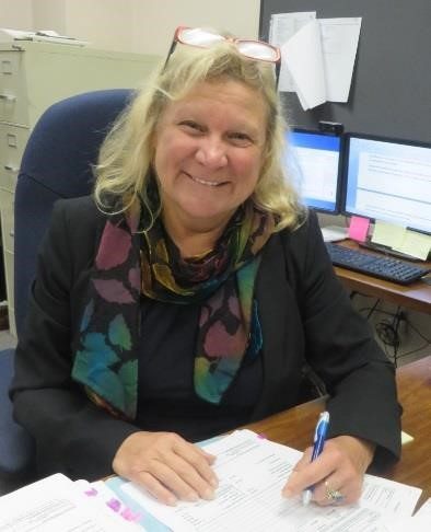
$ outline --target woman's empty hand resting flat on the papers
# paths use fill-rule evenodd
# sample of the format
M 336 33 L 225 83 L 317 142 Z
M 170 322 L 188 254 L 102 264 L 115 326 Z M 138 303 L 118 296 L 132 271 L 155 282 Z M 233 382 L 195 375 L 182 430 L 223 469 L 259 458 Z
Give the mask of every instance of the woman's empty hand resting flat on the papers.
M 133 432 L 119 447 L 114 471 L 143 486 L 166 505 L 177 499 L 212 499 L 218 479 L 215 456 L 174 432 Z

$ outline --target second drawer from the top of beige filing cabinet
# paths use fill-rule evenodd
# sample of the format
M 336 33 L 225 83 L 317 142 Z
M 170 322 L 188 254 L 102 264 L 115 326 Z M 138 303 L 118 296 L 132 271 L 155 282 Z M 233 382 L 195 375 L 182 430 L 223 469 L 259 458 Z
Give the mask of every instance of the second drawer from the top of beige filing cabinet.
M 15 189 L 21 159 L 27 143 L 30 129 L 0 123 L 0 187 Z

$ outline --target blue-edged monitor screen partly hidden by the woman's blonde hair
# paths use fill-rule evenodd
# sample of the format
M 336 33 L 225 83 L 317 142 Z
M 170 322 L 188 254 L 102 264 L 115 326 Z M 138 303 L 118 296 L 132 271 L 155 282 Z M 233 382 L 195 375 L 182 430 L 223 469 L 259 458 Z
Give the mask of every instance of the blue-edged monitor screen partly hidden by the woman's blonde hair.
M 337 215 L 341 192 L 340 135 L 292 128 L 288 134 L 288 174 L 305 205 Z

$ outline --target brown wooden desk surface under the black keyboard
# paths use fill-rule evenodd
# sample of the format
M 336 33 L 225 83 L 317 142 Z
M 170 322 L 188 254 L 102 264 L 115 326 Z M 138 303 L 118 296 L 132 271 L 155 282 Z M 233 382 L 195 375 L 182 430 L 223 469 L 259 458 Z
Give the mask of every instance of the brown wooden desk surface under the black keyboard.
M 356 242 L 343 241 L 342 245 L 352 248 L 360 248 Z M 366 250 L 366 253 L 373 253 Z M 431 268 L 431 263 L 422 263 L 426 267 Z M 424 312 L 431 314 L 431 285 L 427 285 L 422 280 L 412 282 L 408 286 L 388 282 L 376 277 L 371 277 L 365 274 L 358 274 L 350 269 L 335 267 L 335 271 L 345 287 L 350 291 L 372 296 L 373 298 L 383 299 L 389 303 L 394 303 L 406 309 Z

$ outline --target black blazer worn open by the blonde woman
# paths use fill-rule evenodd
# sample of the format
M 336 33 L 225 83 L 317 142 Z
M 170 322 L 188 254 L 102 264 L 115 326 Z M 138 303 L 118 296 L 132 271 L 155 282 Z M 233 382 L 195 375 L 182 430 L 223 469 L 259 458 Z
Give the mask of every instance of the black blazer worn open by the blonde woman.
M 40 475 L 112 473 L 132 423 L 96 407 L 71 381 L 71 345 L 106 218 L 90 197 L 59 200 L 42 243 L 36 281 L 15 357 L 14 415 L 35 437 Z M 298 404 L 306 361 L 329 393 L 329 436 L 377 444 L 376 460 L 400 453 L 394 367 L 336 278 L 315 215 L 273 234 L 256 280 L 264 382 L 252 420 Z

